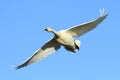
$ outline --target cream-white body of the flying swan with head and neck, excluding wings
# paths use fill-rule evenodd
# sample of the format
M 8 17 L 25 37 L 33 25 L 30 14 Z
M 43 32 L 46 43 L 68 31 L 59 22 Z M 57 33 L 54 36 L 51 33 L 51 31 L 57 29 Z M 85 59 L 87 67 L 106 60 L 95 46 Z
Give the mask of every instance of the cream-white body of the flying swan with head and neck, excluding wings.
M 55 34 L 55 37 L 54 37 L 55 40 L 59 44 L 64 46 L 65 49 L 67 49 L 68 51 L 76 52 L 77 49 L 79 50 L 80 42 L 76 43 L 76 41 L 74 40 L 72 35 L 68 34 L 66 32 L 66 30 L 61 30 L 59 32 L 56 32 L 55 30 L 53 30 L 51 28 L 46 28 L 45 30 L 48 31 L 48 32 L 54 33 Z M 77 42 L 78 42 L 78 40 L 77 40 Z

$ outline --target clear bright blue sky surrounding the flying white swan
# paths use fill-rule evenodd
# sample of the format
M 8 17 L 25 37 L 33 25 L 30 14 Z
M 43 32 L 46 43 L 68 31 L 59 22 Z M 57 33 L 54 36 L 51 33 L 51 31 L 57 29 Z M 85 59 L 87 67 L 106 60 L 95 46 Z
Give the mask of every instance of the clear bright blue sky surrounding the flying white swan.
M 120 11 L 118 0 L 0 0 L 0 80 L 120 80 Z M 26 60 L 53 34 L 50 26 L 66 29 L 109 16 L 81 36 L 76 53 L 61 48 L 41 62 L 20 70 Z

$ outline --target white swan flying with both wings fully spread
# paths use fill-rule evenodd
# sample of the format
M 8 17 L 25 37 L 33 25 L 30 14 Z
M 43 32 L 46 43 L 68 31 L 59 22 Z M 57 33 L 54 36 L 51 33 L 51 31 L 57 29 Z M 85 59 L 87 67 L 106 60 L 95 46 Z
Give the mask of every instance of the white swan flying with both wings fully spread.
M 79 50 L 81 42 L 80 40 L 75 40 L 74 38 L 78 38 L 88 31 L 96 28 L 98 24 L 101 23 L 107 16 L 108 13 L 105 13 L 104 9 L 100 9 L 100 16 L 90 22 L 73 26 L 61 31 L 55 31 L 54 29 L 47 27 L 45 31 L 53 33 L 54 37 L 50 39 L 43 47 L 38 49 L 25 62 L 18 65 L 16 69 L 20 69 L 22 67 L 42 60 L 43 58 L 51 55 L 52 53 L 60 49 L 61 46 L 64 46 L 66 50 L 75 53 L 77 50 Z

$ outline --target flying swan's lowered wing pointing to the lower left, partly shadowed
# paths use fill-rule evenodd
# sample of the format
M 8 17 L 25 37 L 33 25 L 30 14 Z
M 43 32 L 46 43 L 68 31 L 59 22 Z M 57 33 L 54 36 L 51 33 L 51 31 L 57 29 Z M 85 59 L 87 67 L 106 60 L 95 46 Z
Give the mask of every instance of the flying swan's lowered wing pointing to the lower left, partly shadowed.
M 60 44 L 56 42 L 55 38 L 53 38 L 49 42 L 47 42 L 41 49 L 38 49 L 27 61 L 17 66 L 16 69 L 38 62 L 43 58 L 51 55 L 53 52 L 57 51 L 59 48 Z

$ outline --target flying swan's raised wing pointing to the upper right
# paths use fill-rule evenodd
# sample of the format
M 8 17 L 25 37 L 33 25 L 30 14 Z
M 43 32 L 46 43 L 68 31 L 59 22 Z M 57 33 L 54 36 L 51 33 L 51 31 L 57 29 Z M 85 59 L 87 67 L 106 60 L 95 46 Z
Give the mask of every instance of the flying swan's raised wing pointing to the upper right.
M 73 26 L 72 28 L 67 29 L 66 32 L 68 34 L 72 35 L 73 37 L 79 37 L 79 36 L 85 34 L 86 32 L 96 28 L 97 25 L 99 23 L 101 23 L 108 15 L 108 14 L 104 13 L 104 10 L 100 10 L 100 12 L 101 12 L 101 14 L 100 14 L 99 18 L 92 20 L 90 22 L 87 22 L 87 23 Z

